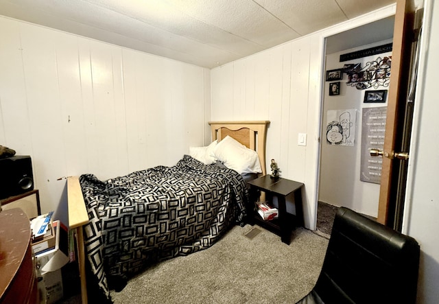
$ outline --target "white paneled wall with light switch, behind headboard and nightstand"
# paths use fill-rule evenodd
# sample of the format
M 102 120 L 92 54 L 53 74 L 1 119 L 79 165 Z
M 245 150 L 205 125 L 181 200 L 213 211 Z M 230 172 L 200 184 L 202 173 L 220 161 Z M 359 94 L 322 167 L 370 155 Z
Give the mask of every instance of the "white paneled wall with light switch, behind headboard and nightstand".
M 212 119 L 270 120 L 265 165 L 270 167 L 275 159 L 281 176 L 305 183 L 309 190 L 304 197 L 310 202 L 316 190 L 322 64 L 311 56 L 321 51 L 313 47 L 318 43 L 308 36 L 211 71 Z M 310 103 L 311 96 L 316 97 L 315 104 Z M 299 133 L 307 133 L 306 146 L 298 145 Z M 294 213 L 293 206 L 288 209 Z M 305 204 L 307 226 L 312 225 L 314 209 L 313 204 Z

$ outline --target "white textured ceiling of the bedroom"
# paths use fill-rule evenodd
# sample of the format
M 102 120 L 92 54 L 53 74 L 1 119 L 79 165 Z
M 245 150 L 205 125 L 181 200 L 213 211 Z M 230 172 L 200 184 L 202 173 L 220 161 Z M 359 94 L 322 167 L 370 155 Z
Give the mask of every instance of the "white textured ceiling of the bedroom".
M 0 0 L 0 14 L 213 68 L 395 0 Z

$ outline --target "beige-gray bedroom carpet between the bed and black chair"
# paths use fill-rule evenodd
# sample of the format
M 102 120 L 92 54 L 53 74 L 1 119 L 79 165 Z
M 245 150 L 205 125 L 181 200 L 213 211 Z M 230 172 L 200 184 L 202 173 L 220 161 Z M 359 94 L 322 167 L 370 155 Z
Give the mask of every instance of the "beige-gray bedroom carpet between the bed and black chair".
M 288 246 L 254 227 L 234 226 L 211 248 L 152 266 L 112 291 L 113 301 L 295 303 L 316 283 L 328 240 L 299 228 Z

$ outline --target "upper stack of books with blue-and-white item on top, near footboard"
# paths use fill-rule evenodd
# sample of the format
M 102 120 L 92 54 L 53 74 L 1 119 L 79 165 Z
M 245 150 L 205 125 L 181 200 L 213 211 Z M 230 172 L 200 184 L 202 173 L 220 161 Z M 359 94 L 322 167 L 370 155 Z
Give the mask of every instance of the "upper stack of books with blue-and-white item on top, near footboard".
M 52 222 L 53 214 L 54 211 L 38 215 L 30 222 L 32 229 L 32 249 L 36 255 L 55 247 L 56 239 Z

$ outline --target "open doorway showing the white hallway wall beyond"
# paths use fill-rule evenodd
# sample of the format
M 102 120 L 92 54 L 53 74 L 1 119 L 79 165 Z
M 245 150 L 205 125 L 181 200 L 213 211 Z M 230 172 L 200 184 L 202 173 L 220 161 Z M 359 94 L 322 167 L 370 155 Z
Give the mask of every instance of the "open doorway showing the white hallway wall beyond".
M 378 86 L 375 84 L 368 88 L 358 88 L 353 83 L 355 81 L 349 78 L 352 73 L 349 73 L 347 68 L 345 69 L 345 65 L 354 65 L 354 67 L 357 65 L 357 68 L 364 68 L 366 65 L 370 65 L 370 62 L 373 64 L 377 60 L 391 56 L 391 52 L 344 61 L 340 60 L 340 55 L 388 45 L 392 43 L 393 30 L 394 16 L 390 16 L 326 38 L 325 71 L 342 69 L 342 77 L 337 80 L 325 78 L 323 84 L 318 190 L 318 205 L 320 207 L 322 204 L 348 207 L 372 218 L 377 218 L 379 183 L 373 178 L 368 179 L 364 176 L 361 178 L 363 169 L 361 165 L 361 135 L 366 110 L 375 110 L 375 108 L 379 110 L 379 108 L 385 108 L 387 104 L 382 100 L 380 102 L 365 102 L 366 91 L 385 92 L 388 89 L 388 84 L 382 83 Z M 339 87 L 335 94 L 331 91 L 334 84 Z M 342 121 L 342 118 L 346 117 L 346 113 L 348 113 L 348 125 L 351 126 L 350 132 L 346 133 L 345 130 L 344 135 L 340 135 L 344 143 L 330 143 L 327 141 L 329 124 L 331 121 Z M 332 211 L 333 209 L 318 208 L 317 229 L 319 229 L 319 217 L 328 217 L 327 214 L 322 214 L 327 210 Z

